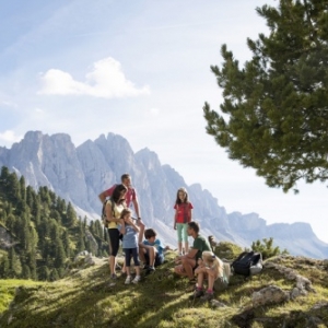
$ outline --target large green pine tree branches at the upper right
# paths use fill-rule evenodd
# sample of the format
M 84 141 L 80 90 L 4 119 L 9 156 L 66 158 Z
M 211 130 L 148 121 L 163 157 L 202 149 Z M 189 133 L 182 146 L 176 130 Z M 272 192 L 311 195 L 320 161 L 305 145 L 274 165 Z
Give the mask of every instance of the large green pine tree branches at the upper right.
M 300 179 L 326 181 L 327 1 L 280 0 L 256 10 L 269 36 L 247 39 L 253 57 L 243 68 L 222 46 L 222 67 L 211 67 L 223 89 L 222 114 L 204 104 L 207 132 L 270 187 L 286 192 Z

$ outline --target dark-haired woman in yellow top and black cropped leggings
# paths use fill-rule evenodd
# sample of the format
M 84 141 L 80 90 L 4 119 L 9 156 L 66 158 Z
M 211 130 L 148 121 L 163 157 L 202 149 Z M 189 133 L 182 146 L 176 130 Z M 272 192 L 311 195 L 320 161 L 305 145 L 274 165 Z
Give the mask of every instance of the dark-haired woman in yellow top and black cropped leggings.
M 106 221 L 108 221 L 109 234 L 109 270 L 110 278 L 116 279 L 116 256 L 119 248 L 119 231 L 118 223 L 121 222 L 120 213 L 126 208 L 126 192 L 128 188 L 125 185 L 117 185 L 106 202 L 105 212 Z

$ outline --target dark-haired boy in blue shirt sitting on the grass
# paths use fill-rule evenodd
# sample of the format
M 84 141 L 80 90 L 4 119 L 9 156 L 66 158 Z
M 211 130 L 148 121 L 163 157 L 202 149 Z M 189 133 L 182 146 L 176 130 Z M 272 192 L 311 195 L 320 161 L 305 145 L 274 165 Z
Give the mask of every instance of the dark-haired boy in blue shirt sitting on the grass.
M 156 232 L 153 229 L 144 231 L 144 238 L 139 246 L 139 257 L 147 269 L 147 274 L 155 271 L 155 267 L 163 265 L 164 251 L 168 247 L 164 247 L 160 239 L 156 239 Z

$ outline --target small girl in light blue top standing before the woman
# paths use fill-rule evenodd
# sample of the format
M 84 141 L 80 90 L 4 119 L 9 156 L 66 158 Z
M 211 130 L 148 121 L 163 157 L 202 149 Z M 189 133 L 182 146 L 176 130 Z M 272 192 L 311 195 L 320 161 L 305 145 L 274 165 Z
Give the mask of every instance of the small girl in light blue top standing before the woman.
M 138 258 L 139 247 L 138 247 L 138 235 L 139 235 L 139 227 L 133 222 L 131 218 L 131 210 L 124 209 L 120 218 L 122 222 L 120 224 L 120 233 L 122 234 L 122 249 L 126 254 L 126 271 L 127 271 L 127 279 L 126 284 L 131 283 L 131 272 L 130 272 L 130 262 L 131 257 L 133 257 L 134 262 L 134 270 L 136 270 L 136 278 L 132 280 L 133 283 L 138 283 L 140 281 L 140 262 Z

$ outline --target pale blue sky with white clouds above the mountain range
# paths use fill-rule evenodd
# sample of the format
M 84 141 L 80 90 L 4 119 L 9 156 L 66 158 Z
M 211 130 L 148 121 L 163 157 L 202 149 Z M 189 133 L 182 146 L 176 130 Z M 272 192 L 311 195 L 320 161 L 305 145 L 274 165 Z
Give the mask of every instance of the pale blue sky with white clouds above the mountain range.
M 278 1 L 1 1 L 0 147 L 31 130 L 68 133 L 75 147 L 114 132 L 227 213 L 307 222 L 328 243 L 325 184 L 300 183 L 298 195 L 269 188 L 206 133 L 204 102 L 222 102 L 210 67 L 222 65 L 223 44 L 241 66 L 250 59 L 247 37 L 268 34 L 255 10 L 265 3 Z

